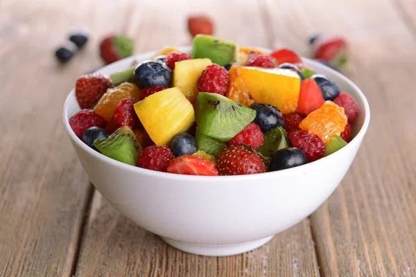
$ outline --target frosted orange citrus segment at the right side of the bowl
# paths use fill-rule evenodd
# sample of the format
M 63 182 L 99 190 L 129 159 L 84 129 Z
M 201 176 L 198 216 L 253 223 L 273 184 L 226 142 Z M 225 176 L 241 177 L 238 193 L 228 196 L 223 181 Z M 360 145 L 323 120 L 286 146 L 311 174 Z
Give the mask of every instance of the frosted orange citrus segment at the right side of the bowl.
M 333 136 L 339 136 L 343 132 L 345 125 L 347 116 L 344 108 L 334 102 L 325 101 L 322 107 L 306 116 L 299 127 L 315 134 L 327 145 Z

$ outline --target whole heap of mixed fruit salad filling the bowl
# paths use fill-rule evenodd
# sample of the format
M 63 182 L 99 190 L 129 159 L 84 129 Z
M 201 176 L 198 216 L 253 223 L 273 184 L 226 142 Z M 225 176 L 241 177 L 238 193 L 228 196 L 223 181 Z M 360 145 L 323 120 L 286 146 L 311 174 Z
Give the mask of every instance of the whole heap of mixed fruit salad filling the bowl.
M 83 75 L 69 120 L 89 148 L 147 170 L 248 175 L 302 166 L 352 139 L 347 91 L 288 49 L 196 35 L 110 76 Z

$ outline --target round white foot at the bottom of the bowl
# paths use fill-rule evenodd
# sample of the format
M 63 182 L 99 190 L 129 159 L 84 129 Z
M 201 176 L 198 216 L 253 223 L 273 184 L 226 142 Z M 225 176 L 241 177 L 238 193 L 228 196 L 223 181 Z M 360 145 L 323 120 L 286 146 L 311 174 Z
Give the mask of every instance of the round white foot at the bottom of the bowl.
M 193 244 L 161 237 L 164 242 L 176 249 L 202 256 L 232 256 L 254 250 L 269 242 L 275 235 L 239 244 Z

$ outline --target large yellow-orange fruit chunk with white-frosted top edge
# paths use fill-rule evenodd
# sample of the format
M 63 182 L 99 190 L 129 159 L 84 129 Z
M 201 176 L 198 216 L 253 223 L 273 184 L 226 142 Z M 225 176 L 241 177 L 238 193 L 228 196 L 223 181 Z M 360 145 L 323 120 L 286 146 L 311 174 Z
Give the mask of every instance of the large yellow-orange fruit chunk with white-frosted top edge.
M 300 92 L 300 78 L 297 73 L 288 69 L 250 66 L 239 66 L 237 71 L 256 102 L 273 105 L 282 114 L 296 111 Z

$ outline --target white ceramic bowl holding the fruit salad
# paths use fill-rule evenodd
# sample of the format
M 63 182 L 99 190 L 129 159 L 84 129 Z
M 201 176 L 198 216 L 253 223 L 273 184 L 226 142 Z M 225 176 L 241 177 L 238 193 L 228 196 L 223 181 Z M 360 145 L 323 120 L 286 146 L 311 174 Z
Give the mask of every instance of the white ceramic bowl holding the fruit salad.
M 184 48 L 189 51 L 189 48 Z M 155 55 L 145 53 L 105 66 L 114 73 Z M 355 138 L 345 148 L 313 163 L 257 175 L 203 177 L 129 166 L 107 158 L 73 133 L 69 118 L 80 110 L 74 91 L 64 104 L 64 125 L 92 184 L 125 217 L 177 249 L 205 256 L 250 251 L 302 221 L 336 189 L 363 141 L 370 107 L 363 92 L 329 67 L 304 59 L 358 102 Z

